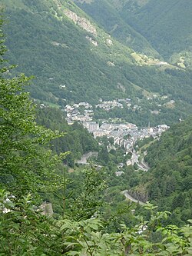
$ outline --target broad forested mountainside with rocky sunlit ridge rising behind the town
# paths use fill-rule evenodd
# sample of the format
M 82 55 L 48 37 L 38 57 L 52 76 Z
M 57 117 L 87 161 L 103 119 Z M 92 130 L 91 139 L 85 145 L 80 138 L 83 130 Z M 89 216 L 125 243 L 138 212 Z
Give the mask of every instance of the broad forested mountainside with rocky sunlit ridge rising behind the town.
M 33 98 L 61 106 L 157 93 L 177 101 L 171 120 L 191 113 L 190 72 L 138 55 L 73 2 L 2 0 L 2 5 L 8 17 L 7 57 L 18 71 L 35 76 L 29 88 Z

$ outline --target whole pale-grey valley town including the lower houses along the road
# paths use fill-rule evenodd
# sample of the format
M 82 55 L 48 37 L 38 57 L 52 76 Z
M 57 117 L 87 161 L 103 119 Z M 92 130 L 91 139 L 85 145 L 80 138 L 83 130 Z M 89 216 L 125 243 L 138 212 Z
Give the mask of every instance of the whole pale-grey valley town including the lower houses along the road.
M 157 125 L 151 127 L 150 123 L 147 127 L 138 128 L 137 125 L 122 121 L 120 118 L 115 118 L 114 120 L 102 120 L 100 124 L 97 121 L 93 120 L 94 109 L 102 108 L 104 111 L 110 111 L 112 108 L 124 108 L 124 105 L 127 105 L 127 108 L 132 108 L 133 111 L 140 110 L 140 105 L 131 105 L 131 99 L 118 99 L 113 101 L 103 101 L 100 99 L 98 105 L 91 105 L 88 102 L 80 102 L 74 105 L 66 105 L 66 119 L 68 124 L 71 125 L 74 121 L 79 121 L 87 128 L 89 132 L 94 135 L 94 138 L 106 136 L 107 138 L 112 138 L 113 145 L 111 148 L 114 148 L 114 145 L 124 147 L 125 154 L 131 153 L 131 159 L 127 161 L 127 165 L 134 165 L 147 171 L 148 167 L 144 161 L 139 161 L 139 153 L 135 151 L 134 145 L 136 141 L 142 140 L 144 138 L 159 138 L 163 131 L 166 131 L 169 126 L 167 125 Z M 109 150 L 111 148 L 108 148 Z M 145 152 L 147 154 L 147 152 Z M 119 173 L 117 173 L 119 175 Z

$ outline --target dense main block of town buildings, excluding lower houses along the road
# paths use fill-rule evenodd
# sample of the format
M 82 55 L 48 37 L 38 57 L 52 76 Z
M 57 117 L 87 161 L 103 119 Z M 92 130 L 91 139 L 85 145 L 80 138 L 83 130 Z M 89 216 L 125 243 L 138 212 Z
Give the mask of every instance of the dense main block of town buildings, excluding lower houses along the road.
M 117 106 L 123 106 L 124 104 L 130 105 L 131 99 L 118 99 L 114 101 L 102 101 L 100 104 L 96 105 L 96 108 L 104 108 L 108 110 Z M 137 108 L 139 106 L 135 106 Z M 156 127 L 147 128 L 137 128 L 137 125 L 132 123 L 109 123 L 103 121 L 101 125 L 93 121 L 94 110 L 93 106 L 88 102 L 80 102 L 74 105 L 66 105 L 65 111 L 67 115 L 68 124 L 74 121 L 80 121 L 84 128 L 87 128 L 89 132 L 94 135 L 94 138 L 107 136 L 108 138 L 114 138 L 114 145 L 124 146 L 126 151 L 133 148 L 134 143 L 138 139 L 143 139 L 147 137 L 160 136 L 163 131 L 169 128 L 167 125 L 157 125 Z

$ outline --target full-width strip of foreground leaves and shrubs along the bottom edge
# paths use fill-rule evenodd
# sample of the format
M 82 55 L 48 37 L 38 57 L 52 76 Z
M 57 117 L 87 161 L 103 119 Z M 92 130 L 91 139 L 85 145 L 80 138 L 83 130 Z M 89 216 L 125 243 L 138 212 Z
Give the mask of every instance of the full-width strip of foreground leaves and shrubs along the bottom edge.
M 33 208 L 30 195 L 20 200 L 7 200 L 8 197 L 7 192 L 0 191 L 2 255 L 181 256 L 191 253 L 190 224 L 182 228 L 164 227 L 161 220 L 167 213 L 155 212 L 152 204 L 147 205 L 151 211 L 148 221 L 138 217 L 133 227 L 122 224 L 119 233 L 109 234 L 104 232 L 104 224 L 98 218 L 55 221 Z

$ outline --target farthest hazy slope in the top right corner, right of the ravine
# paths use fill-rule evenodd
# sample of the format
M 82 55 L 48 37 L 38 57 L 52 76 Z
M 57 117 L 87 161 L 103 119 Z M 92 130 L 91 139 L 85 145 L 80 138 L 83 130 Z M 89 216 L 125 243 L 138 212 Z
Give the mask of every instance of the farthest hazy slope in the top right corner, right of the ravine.
M 190 0 L 111 0 L 124 19 L 164 58 L 192 68 L 191 33 L 192 2 Z

